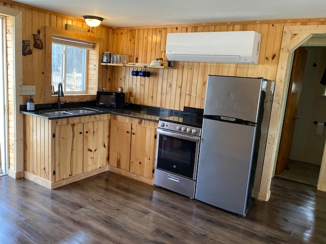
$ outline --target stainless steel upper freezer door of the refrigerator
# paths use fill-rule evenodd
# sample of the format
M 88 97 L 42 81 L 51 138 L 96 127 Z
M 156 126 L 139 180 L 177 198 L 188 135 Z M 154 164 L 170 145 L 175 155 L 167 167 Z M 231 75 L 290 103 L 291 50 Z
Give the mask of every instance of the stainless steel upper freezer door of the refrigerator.
M 204 115 L 257 123 L 262 78 L 209 75 Z

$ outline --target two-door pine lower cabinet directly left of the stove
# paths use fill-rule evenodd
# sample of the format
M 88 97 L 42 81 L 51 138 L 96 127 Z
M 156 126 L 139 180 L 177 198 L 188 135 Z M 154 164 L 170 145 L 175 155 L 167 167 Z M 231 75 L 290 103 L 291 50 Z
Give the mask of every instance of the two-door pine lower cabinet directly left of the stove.
M 109 169 L 153 184 L 157 123 L 120 115 L 110 123 Z

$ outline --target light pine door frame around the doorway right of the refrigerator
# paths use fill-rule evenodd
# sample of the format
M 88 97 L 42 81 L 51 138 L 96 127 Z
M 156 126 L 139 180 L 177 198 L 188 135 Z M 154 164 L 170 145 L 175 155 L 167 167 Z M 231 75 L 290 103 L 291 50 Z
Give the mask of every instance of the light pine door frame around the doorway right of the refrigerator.
M 286 107 L 286 98 L 292 69 L 294 51 L 301 45 L 326 45 L 326 25 L 295 25 L 284 26 L 279 65 L 277 69 L 275 94 L 270 116 L 269 130 L 266 142 L 262 181 L 258 198 L 268 201 L 270 198 L 271 178 L 275 173 L 278 158 L 278 148 L 282 133 L 282 125 Z M 314 36 L 322 36 L 319 40 L 309 40 Z M 308 41 L 309 40 L 309 41 Z M 267 163 L 268 162 L 268 163 Z M 318 179 L 318 190 L 326 191 L 326 144 L 321 160 Z

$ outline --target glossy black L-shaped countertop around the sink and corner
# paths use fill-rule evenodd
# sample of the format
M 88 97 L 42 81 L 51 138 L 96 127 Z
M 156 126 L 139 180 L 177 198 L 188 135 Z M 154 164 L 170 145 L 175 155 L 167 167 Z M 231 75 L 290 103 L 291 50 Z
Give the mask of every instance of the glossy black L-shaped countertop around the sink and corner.
M 73 108 L 78 108 L 78 109 L 88 108 L 90 110 L 93 110 L 94 112 L 83 113 L 83 114 L 67 113 L 64 115 L 53 115 L 53 114 L 44 113 L 49 111 L 66 111 L 66 110 L 69 112 L 69 110 Z M 20 105 L 20 113 L 42 117 L 46 119 L 60 119 L 60 118 L 87 116 L 87 115 L 94 115 L 94 114 L 112 113 L 112 114 L 119 114 L 119 115 L 141 118 L 141 119 L 157 122 L 161 117 L 180 116 L 182 114 L 182 111 L 143 106 L 137 104 L 127 104 L 124 108 L 112 108 L 112 107 L 105 107 L 105 106 L 96 106 L 96 102 L 92 101 L 92 102 L 66 103 L 62 105 L 60 109 L 58 109 L 57 103 L 36 104 L 34 111 L 27 110 L 26 105 Z

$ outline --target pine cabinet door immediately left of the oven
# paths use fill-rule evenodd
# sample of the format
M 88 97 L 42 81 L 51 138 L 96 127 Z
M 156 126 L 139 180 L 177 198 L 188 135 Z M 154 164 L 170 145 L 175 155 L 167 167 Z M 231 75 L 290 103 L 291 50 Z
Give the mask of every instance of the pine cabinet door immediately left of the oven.
M 132 124 L 130 172 L 153 178 L 156 151 L 156 129 Z

